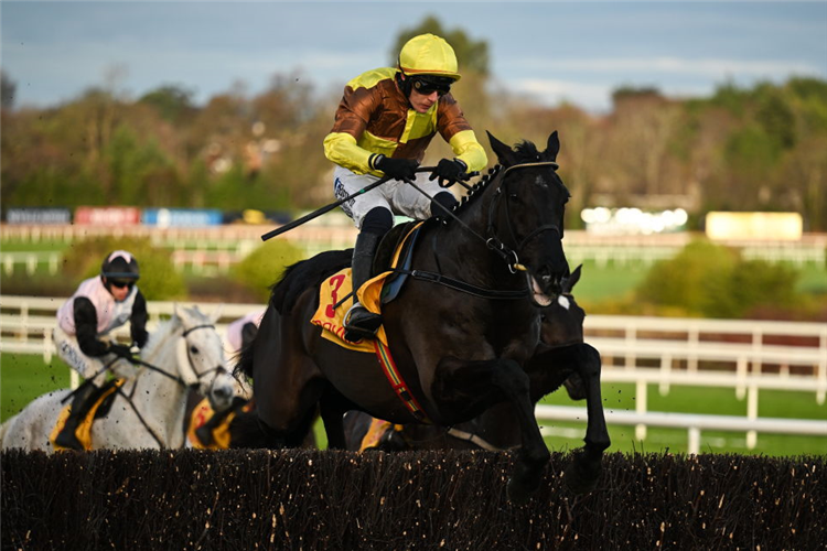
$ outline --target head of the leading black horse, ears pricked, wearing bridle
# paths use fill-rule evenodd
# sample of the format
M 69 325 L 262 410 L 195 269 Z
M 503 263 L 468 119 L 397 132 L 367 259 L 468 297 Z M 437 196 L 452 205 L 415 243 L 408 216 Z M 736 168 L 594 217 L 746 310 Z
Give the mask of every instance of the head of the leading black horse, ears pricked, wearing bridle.
M 513 269 L 526 272 L 531 300 L 548 306 L 562 292 L 569 264 L 562 250 L 562 223 L 569 191 L 557 175 L 557 131 L 545 151 L 531 142 L 515 149 L 488 133 L 503 166 L 491 204 L 488 238 L 513 256 Z

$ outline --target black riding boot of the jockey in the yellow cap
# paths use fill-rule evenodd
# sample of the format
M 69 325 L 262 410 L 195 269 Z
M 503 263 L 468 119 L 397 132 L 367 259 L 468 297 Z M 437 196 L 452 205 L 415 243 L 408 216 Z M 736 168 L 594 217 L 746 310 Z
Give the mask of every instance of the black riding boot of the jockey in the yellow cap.
M 370 209 L 362 220 L 362 228 L 353 249 L 353 306 L 347 311 L 344 318 L 344 337 L 347 341 L 373 338 L 382 325 L 382 316 L 359 304 L 355 292 L 370 279 L 374 255 L 382 237 L 388 233 L 393 224 L 394 215 L 384 207 Z

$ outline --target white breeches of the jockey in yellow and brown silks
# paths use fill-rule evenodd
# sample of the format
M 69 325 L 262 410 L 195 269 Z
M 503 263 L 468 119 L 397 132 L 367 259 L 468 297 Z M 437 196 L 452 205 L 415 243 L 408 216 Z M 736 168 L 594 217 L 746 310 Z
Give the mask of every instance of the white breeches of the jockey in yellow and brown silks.
M 440 187 L 436 180 L 428 180 L 429 176 L 430 174 L 427 172 L 418 173 L 415 181 L 417 186 L 431 197 L 440 192 L 451 193 L 450 190 Z M 379 179 L 373 174 L 356 174 L 342 166 L 336 166 L 333 171 L 333 192 L 336 198 L 343 199 L 377 180 Z M 359 229 L 362 229 L 362 218 L 376 207 L 385 207 L 394 214 L 409 216 L 418 220 L 425 220 L 431 216 L 431 199 L 419 193 L 414 186 L 399 180 L 385 182 L 378 187 L 374 187 L 369 192 L 357 195 L 342 204 L 342 209 L 353 218 L 353 223 Z

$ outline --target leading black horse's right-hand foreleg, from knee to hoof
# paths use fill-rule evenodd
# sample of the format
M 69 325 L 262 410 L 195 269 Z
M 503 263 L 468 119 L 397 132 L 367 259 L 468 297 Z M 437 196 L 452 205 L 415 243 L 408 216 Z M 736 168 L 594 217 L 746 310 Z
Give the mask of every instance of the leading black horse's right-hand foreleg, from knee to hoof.
M 611 441 L 603 417 L 600 395 L 600 353 L 588 344 L 578 345 L 578 372 L 586 390 L 588 423 L 586 445 L 574 452 L 573 462 L 566 468 L 566 484 L 577 494 L 591 491 L 598 484 L 603 451 Z

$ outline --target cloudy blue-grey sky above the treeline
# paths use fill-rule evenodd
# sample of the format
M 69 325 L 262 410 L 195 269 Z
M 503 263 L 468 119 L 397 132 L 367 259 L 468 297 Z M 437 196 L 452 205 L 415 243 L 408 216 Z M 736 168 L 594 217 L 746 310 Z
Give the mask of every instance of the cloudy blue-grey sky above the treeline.
M 201 104 L 294 71 L 325 91 L 386 66 L 400 30 L 429 14 L 487 41 L 495 83 L 547 105 L 605 110 L 625 85 L 687 97 L 728 80 L 827 78 L 827 0 L 0 0 L 0 67 L 15 107 L 107 82 L 130 97 L 181 85 Z

